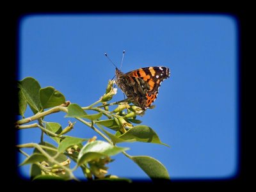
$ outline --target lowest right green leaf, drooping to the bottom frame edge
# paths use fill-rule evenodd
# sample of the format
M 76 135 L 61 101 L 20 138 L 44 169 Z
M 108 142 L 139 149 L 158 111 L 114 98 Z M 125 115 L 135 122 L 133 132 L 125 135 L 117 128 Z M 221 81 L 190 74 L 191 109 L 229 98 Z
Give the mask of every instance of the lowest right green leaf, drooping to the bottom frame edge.
M 132 156 L 132 161 L 134 161 L 140 168 L 147 173 L 147 175 L 152 180 L 166 179 L 170 180 L 170 176 L 166 168 L 162 163 L 156 159 L 148 156 Z

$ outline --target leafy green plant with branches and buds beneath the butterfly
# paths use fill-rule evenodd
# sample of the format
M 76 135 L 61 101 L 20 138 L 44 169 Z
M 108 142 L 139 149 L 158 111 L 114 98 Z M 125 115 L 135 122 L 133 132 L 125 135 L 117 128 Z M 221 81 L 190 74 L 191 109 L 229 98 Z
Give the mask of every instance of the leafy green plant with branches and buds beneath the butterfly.
M 20 153 L 26 156 L 20 166 L 31 164 L 32 180 L 78 180 L 73 172 L 81 168 L 87 180 L 131 182 L 129 179 L 108 174 L 107 165 L 113 161 L 111 157 L 120 153 L 137 164 L 150 179 L 170 179 L 164 165 L 153 157 L 131 156 L 127 153 L 129 148 L 117 146 L 118 143 L 124 142 L 166 144 L 161 142 L 154 129 L 141 125 L 141 120 L 136 119 L 137 116 L 144 115 L 145 111 L 141 108 L 132 105 L 127 99 L 109 102 L 116 94 L 113 84 L 113 81 L 109 81 L 106 92 L 99 100 L 90 106 L 82 107 L 66 101 L 65 96 L 52 86 L 41 88 L 33 77 L 26 77 L 17 83 L 19 115 L 22 116 L 22 119 L 16 122 L 17 130 L 38 128 L 42 131 L 40 143 L 17 145 Z M 25 117 L 28 106 L 34 115 Z M 115 109 L 109 109 L 114 106 Z M 65 117 L 79 120 L 105 141 L 97 140 L 96 136 L 93 138 L 68 136 L 76 126 L 76 122 L 67 122 L 65 128 L 62 128 L 58 122 L 46 120 L 48 115 L 58 112 L 64 112 Z M 57 147 L 45 142 L 44 136 L 52 138 Z M 26 154 L 22 148 L 34 148 L 34 150 L 32 154 Z M 73 168 L 70 168 L 71 161 L 76 164 Z

